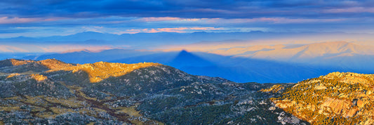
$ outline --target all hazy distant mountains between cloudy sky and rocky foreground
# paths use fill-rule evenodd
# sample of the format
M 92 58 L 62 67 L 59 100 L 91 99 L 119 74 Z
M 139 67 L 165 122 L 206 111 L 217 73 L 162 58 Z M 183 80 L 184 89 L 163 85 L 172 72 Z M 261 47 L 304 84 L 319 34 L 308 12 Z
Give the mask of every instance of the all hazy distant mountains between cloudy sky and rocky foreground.
M 72 63 L 107 62 L 159 62 L 171 65 L 190 74 L 223 77 L 236 82 L 256 81 L 296 82 L 310 77 L 318 77 L 328 72 L 359 72 L 372 73 L 374 66 L 374 47 L 363 46 L 346 41 L 334 41 L 315 44 L 285 44 L 285 45 L 255 45 L 250 46 L 240 39 L 260 39 L 261 36 L 277 33 L 242 32 L 242 33 L 210 33 L 194 32 L 189 34 L 156 33 L 156 34 L 102 34 L 98 32 L 83 32 L 69 36 L 28 38 L 18 37 L 0 39 L 0 43 L 22 43 L 20 46 L 0 45 L 0 59 L 22 58 L 45 60 L 56 58 Z M 332 33 L 331 33 L 332 34 Z M 258 36 L 256 36 L 258 35 Z M 302 35 L 302 34 L 300 34 Z M 303 34 L 306 35 L 306 34 Z M 239 39 L 220 41 L 225 39 Z M 134 49 L 108 49 L 92 51 L 65 51 L 64 53 L 27 53 L 26 48 L 38 49 L 43 44 L 97 44 L 130 46 L 161 46 L 161 44 L 186 44 L 186 48 L 200 46 L 206 48 L 200 51 L 159 51 Z M 152 42 L 151 42 L 152 41 Z M 178 41 L 176 43 L 175 41 Z M 36 43 L 29 47 L 25 43 Z M 131 44 L 132 43 L 132 44 Z M 148 43 L 148 44 L 145 44 Z M 38 45 L 39 44 L 39 45 Z M 222 44 L 222 45 L 221 45 Z M 225 48 L 226 45 L 229 48 Z M 73 46 L 74 46 L 73 45 Z M 244 46 L 245 45 L 245 46 Z M 22 48 L 23 46 L 23 48 Z M 239 47 L 238 47 L 239 46 Z M 69 48 L 70 46 L 67 46 Z M 136 47 L 135 47 L 136 48 Z M 44 48 L 47 49 L 47 48 Z M 48 48 L 49 51 L 53 48 Z M 13 53 L 13 51 L 25 53 Z M 187 49 L 189 50 L 189 49 Z M 193 49 L 192 49 L 193 50 Z M 5 53 L 6 52 L 6 53 Z M 305 73 L 307 72 L 307 73 Z M 293 74 L 292 76 L 286 74 Z

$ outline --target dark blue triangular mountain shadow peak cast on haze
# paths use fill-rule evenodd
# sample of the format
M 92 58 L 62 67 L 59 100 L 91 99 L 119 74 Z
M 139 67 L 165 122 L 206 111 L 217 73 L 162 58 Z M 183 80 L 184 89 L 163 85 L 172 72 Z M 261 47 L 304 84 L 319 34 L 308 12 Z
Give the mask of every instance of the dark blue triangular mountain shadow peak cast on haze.
M 189 53 L 185 50 L 180 51 L 178 55 L 171 61 L 168 62 L 166 65 L 171 65 L 173 67 L 208 67 L 208 66 L 215 66 L 213 62 L 205 60 L 198 55 L 194 55 L 193 53 Z

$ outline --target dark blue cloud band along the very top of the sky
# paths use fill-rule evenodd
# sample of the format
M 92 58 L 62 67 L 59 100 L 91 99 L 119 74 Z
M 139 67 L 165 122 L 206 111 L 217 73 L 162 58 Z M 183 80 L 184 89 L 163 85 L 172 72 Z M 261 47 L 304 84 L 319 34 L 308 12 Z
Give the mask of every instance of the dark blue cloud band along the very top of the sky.
M 20 18 L 98 18 L 121 16 L 148 18 L 148 20 L 261 17 L 329 18 L 331 15 L 326 12 L 371 13 L 372 9 L 366 7 L 370 5 L 373 5 L 373 1 L 29 0 L 0 1 L 0 6 L 3 6 L 0 8 L 0 16 Z M 342 18 L 345 15 L 333 16 Z

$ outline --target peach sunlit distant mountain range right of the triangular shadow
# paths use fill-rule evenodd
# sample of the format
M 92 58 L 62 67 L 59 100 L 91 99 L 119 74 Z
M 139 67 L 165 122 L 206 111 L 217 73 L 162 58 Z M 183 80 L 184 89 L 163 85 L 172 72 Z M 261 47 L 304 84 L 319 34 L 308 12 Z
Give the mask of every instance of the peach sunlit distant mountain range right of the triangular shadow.
M 306 45 L 250 46 L 208 51 L 222 55 L 293 62 L 304 65 L 341 67 L 347 71 L 370 73 L 374 67 L 374 46 L 346 41 L 323 42 Z

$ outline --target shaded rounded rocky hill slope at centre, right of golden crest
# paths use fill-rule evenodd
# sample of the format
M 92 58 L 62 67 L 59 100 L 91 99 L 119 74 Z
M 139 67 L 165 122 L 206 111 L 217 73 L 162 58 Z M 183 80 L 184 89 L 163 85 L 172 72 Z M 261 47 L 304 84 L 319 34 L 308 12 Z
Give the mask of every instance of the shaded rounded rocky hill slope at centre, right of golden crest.
M 126 97 L 144 93 L 152 94 L 175 87 L 187 86 L 194 82 L 222 83 L 228 81 L 220 78 L 194 76 L 166 65 L 154 65 L 133 70 L 123 76 L 110 77 L 85 88 L 83 91 L 88 95 L 96 94 L 96 96 L 99 96 L 103 93 L 112 93 L 118 97 Z

